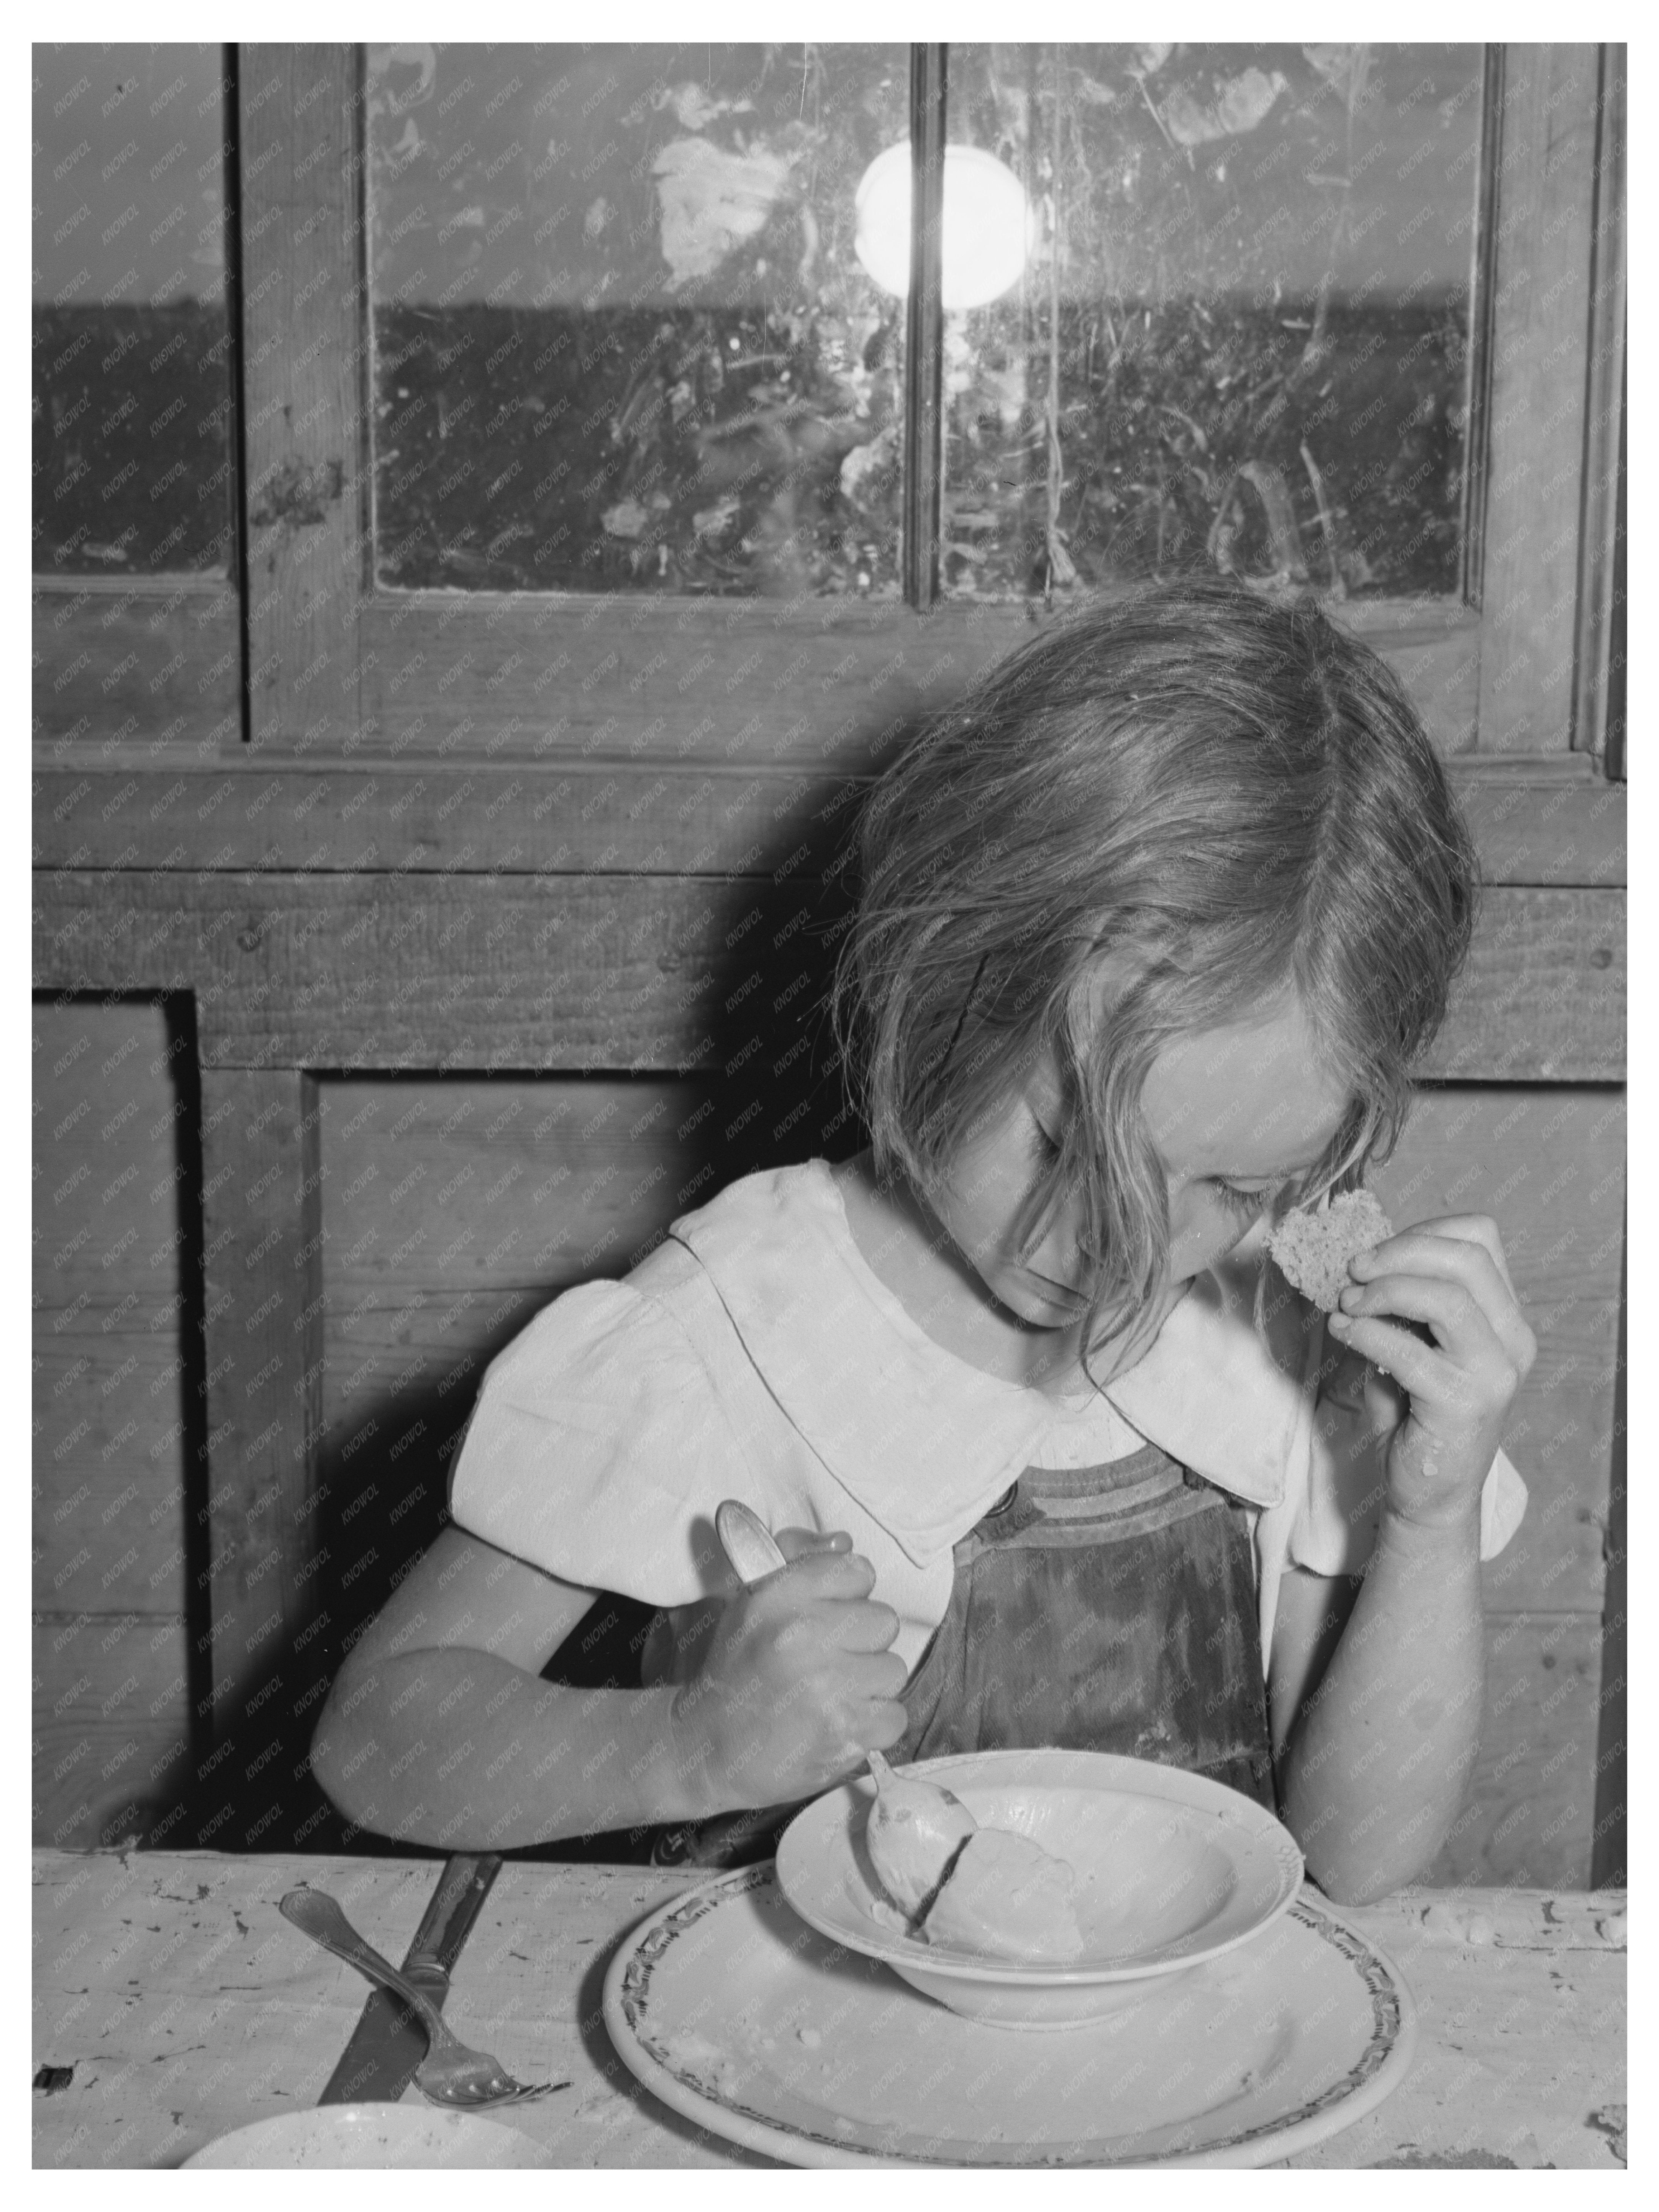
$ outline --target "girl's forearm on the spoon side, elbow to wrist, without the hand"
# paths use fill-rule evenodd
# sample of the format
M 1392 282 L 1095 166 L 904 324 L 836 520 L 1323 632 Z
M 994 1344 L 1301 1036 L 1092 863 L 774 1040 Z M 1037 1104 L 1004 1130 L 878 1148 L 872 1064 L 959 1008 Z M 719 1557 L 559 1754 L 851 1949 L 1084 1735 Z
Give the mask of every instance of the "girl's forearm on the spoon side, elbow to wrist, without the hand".
M 672 1688 L 571 1690 L 449 1646 L 347 1668 L 312 1770 L 358 1827 L 502 1851 L 714 1812 L 672 1728 Z

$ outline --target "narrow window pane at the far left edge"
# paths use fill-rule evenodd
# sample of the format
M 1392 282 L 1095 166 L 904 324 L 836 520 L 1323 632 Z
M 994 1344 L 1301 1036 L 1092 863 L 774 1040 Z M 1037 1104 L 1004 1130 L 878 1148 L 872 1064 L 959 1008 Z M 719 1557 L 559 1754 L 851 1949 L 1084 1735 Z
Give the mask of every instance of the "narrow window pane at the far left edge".
M 33 49 L 33 564 L 226 575 L 223 46 Z

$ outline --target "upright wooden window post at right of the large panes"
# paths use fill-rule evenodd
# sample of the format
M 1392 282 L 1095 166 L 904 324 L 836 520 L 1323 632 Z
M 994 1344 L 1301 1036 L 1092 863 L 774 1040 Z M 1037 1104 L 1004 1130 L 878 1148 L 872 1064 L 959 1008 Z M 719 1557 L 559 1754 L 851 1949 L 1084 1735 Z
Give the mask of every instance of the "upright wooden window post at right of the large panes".
M 1506 46 L 1482 555 L 1480 750 L 1573 730 L 1597 49 Z

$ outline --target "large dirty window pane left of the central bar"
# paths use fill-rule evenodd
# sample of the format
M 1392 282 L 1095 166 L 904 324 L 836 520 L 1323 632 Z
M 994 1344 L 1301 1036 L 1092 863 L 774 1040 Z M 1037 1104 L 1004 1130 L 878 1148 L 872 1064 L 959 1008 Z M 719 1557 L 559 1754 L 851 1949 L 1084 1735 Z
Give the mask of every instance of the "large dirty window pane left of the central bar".
M 376 575 L 896 593 L 905 46 L 369 49 Z

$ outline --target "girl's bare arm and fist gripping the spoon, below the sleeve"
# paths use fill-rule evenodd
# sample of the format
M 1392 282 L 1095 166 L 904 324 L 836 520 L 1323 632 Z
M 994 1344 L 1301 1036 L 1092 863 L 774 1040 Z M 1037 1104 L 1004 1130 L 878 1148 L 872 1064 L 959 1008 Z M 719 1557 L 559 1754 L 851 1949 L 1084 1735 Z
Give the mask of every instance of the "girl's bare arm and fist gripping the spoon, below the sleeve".
M 905 1730 L 898 1615 L 847 1537 L 690 1608 L 668 1679 L 571 1690 L 540 1670 L 595 1593 L 447 1528 L 352 1648 L 312 1739 L 356 1825 L 451 1851 L 695 1820 L 812 1796 Z

